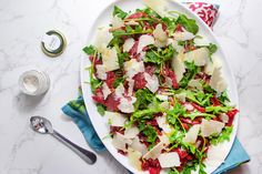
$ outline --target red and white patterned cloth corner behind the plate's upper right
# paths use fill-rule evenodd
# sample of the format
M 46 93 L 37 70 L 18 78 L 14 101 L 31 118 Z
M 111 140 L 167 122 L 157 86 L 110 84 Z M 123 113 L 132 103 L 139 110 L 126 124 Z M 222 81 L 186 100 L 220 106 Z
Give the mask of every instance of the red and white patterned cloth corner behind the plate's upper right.
M 219 13 L 218 4 L 206 2 L 187 2 L 185 4 L 212 28 Z

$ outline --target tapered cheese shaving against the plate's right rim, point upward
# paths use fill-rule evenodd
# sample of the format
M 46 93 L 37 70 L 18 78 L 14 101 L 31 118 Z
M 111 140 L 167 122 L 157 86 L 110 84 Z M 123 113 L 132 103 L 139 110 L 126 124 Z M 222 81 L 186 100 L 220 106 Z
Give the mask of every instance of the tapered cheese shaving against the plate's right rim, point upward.
M 221 93 L 226 89 L 226 83 L 222 78 L 221 69 L 215 68 L 210 79 L 210 86 Z

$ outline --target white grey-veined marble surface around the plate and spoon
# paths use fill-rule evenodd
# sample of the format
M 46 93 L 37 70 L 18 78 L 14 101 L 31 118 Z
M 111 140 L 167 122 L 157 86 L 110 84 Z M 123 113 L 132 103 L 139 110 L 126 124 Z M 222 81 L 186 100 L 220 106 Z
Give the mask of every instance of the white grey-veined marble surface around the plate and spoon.
M 49 117 L 69 139 L 90 149 L 77 126 L 61 113 L 61 106 L 77 96 L 81 49 L 94 17 L 112 0 L 0 0 L 0 174 L 127 173 L 110 154 L 99 154 L 88 165 L 49 135 L 33 133 L 31 115 Z M 231 62 L 240 98 L 238 136 L 251 162 L 231 173 L 262 171 L 262 24 L 260 0 L 226 0 L 221 6 L 214 32 Z M 69 44 L 58 59 L 40 50 L 44 31 L 62 31 Z M 41 69 L 51 78 L 43 98 L 19 92 L 18 76 Z

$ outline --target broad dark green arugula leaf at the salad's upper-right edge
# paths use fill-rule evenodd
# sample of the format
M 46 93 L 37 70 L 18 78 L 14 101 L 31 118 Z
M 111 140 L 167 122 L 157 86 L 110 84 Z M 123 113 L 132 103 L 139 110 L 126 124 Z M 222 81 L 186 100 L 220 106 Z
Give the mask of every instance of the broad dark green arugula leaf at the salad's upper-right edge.
M 199 32 L 199 27 L 195 23 L 195 20 L 189 19 L 184 14 L 179 16 L 177 23 L 182 24 L 185 30 L 188 30 L 189 32 L 192 32 L 193 34 L 196 34 Z

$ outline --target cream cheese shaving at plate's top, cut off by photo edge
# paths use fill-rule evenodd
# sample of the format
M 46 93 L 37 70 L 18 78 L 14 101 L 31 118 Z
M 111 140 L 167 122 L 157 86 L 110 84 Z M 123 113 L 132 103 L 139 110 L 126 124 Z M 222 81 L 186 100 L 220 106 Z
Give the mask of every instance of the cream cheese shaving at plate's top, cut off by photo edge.
M 144 4 L 150 9 L 154 10 L 159 16 L 167 16 L 167 1 L 164 0 L 143 0 Z

